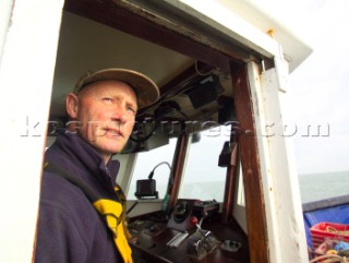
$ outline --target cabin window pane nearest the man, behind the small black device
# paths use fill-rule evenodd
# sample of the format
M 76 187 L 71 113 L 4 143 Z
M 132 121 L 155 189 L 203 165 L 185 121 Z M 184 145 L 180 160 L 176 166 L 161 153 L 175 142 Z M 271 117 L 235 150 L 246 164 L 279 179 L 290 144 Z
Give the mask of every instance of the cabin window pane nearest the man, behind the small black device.
M 169 144 L 160 146 L 158 148 L 152 150 L 149 152 L 137 153 L 136 156 L 136 166 L 131 179 L 131 184 L 128 192 L 128 200 L 134 200 L 136 192 L 136 181 L 147 179 L 151 171 L 160 163 L 166 162 L 169 166 L 172 165 L 172 159 L 174 155 L 177 144 L 177 138 L 170 139 Z M 169 176 L 170 169 L 167 164 L 161 164 L 156 167 L 154 171 L 153 179 L 156 180 L 156 191 L 158 191 L 159 199 L 164 199 Z

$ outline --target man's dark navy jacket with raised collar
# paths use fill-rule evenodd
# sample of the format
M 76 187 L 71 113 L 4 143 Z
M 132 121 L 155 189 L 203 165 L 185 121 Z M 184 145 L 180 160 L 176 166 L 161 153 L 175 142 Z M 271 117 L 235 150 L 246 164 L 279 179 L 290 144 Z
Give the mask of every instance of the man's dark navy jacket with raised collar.
M 80 177 L 96 194 L 115 199 L 119 163 L 104 158 L 82 138 L 67 133 L 47 150 L 45 162 Z M 41 181 L 36 263 L 123 262 L 107 225 L 84 192 L 45 171 Z

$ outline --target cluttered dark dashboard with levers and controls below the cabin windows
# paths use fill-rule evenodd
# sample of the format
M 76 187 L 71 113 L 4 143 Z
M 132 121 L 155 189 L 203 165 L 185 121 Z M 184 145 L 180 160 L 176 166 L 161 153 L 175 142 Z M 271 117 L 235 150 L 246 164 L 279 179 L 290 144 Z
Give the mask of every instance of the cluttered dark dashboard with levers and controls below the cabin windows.
M 159 211 L 131 218 L 135 263 L 246 263 L 248 238 L 239 225 L 221 223 L 216 201 L 177 201 L 169 215 Z

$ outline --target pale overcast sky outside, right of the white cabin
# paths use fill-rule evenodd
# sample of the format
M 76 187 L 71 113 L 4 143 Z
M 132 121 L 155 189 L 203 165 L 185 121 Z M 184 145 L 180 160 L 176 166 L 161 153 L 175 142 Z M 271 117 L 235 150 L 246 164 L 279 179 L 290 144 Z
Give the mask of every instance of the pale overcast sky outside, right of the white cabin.
M 349 171 L 349 1 L 282 2 L 288 23 L 314 50 L 290 75 L 292 119 L 303 131 L 322 127 L 320 136 L 292 138 L 298 171 Z

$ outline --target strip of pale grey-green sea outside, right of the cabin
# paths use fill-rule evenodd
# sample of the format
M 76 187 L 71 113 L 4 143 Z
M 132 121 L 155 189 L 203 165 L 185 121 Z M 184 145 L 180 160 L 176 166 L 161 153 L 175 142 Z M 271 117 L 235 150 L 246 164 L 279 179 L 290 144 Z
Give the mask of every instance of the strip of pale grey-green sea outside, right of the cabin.
M 349 171 L 299 176 L 302 203 L 349 194 Z

